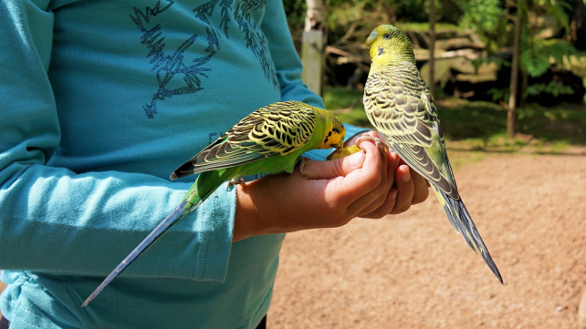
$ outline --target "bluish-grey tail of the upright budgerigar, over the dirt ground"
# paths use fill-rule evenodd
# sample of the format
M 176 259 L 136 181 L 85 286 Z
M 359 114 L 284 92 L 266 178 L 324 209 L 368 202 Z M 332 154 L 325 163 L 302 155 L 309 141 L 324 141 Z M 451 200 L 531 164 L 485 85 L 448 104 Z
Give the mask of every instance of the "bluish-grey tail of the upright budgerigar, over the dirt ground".
M 495 262 L 492 260 L 490 252 L 488 252 L 487 245 L 485 245 L 485 242 L 482 241 L 480 233 L 478 233 L 478 230 L 476 230 L 476 225 L 466 210 L 464 202 L 462 202 L 461 199 L 455 200 L 450 198 L 447 194 L 445 194 L 444 191 L 435 188 L 434 185 L 432 185 L 432 188 L 435 192 L 435 195 L 437 196 L 437 199 L 442 204 L 445 215 L 452 224 L 454 230 L 462 233 L 462 236 L 468 243 L 468 246 L 470 246 L 474 252 L 476 252 L 476 249 L 480 252 L 480 255 L 482 255 L 482 258 L 485 260 L 485 262 L 487 262 L 490 270 L 497 276 L 498 281 L 503 283 L 503 278 L 501 277 L 500 272 L 498 272 L 497 264 L 495 264 Z

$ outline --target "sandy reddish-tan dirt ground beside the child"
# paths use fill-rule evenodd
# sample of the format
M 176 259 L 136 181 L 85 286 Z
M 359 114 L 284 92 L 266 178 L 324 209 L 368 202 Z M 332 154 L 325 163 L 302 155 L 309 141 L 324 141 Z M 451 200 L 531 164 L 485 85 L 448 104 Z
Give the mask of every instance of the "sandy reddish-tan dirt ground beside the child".
M 289 234 L 269 328 L 577 328 L 586 149 L 569 153 L 475 153 L 455 170 L 505 285 L 430 196 L 400 216 Z

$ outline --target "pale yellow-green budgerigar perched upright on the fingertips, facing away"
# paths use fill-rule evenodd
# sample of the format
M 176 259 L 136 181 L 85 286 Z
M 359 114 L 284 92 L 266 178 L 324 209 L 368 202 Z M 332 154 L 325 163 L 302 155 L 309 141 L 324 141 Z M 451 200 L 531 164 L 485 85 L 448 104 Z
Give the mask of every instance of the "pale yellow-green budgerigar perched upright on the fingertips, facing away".
M 415 66 L 411 42 L 397 27 L 383 25 L 371 32 L 366 46 L 371 71 L 364 87 L 364 109 L 371 124 L 409 167 L 430 182 L 454 230 L 475 252 L 476 245 L 503 283 L 458 193 L 434 99 Z

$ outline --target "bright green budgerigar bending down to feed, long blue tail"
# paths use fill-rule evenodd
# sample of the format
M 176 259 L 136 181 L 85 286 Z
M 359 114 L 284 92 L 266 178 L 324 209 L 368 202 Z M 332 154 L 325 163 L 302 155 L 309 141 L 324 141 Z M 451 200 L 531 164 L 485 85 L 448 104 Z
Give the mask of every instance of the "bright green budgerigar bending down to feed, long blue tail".
M 91 302 L 120 272 L 187 213 L 194 211 L 226 181 L 235 184 L 252 174 L 291 173 L 310 149 L 341 149 L 346 129 L 325 109 L 298 101 L 259 108 L 236 123 L 171 174 L 171 179 L 199 173 L 179 206 L 167 216 L 91 293 Z

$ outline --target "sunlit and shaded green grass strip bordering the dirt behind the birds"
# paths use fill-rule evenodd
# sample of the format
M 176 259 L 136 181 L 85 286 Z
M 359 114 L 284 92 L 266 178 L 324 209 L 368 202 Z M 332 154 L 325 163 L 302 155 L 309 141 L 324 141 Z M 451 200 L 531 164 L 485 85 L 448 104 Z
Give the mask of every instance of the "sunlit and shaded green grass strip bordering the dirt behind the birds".
M 327 87 L 326 108 L 343 121 L 370 128 L 362 108 L 362 92 Z M 517 137 L 508 139 L 507 110 L 492 102 L 457 98 L 436 102 L 448 149 L 529 153 L 562 153 L 572 145 L 586 146 L 586 106 L 551 108 L 529 104 L 518 110 Z

